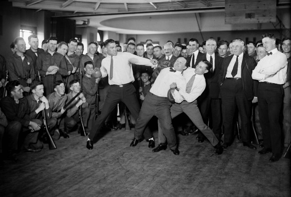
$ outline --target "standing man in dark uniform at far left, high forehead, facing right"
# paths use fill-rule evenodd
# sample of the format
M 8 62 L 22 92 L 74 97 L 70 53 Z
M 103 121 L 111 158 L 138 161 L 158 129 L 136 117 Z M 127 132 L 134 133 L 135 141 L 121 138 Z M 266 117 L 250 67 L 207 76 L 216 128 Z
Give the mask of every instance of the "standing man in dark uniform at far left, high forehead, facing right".
M 34 64 L 32 58 L 25 53 L 25 41 L 21 37 L 14 40 L 16 52 L 7 59 L 6 66 L 9 80 L 18 80 L 22 90 L 29 92 L 29 84 L 34 80 Z

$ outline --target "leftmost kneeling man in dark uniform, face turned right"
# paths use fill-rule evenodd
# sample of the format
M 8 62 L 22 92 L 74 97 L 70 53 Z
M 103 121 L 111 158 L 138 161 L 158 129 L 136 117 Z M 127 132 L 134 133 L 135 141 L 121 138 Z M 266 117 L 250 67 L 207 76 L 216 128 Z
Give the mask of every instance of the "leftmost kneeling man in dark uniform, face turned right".
M 27 99 L 23 98 L 23 90 L 17 80 L 6 84 L 7 96 L 0 101 L 0 107 L 8 120 L 6 127 L 8 151 L 13 153 L 18 150 L 18 138 L 24 141 L 26 152 L 39 152 L 43 145 L 38 143 L 38 131 L 41 129 L 39 120 L 33 120 L 29 116 Z

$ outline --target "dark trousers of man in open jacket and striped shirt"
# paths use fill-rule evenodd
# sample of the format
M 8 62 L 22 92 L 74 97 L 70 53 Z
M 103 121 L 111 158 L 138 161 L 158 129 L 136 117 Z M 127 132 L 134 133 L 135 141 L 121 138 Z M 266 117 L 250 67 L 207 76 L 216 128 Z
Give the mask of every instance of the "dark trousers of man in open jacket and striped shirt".
M 233 118 L 235 115 L 236 105 L 242 120 L 242 140 L 250 142 L 250 120 L 252 102 L 247 100 L 246 94 L 243 91 L 242 80 L 225 79 L 220 87 L 222 101 L 222 119 L 224 126 L 224 141 L 232 142 L 233 137 Z

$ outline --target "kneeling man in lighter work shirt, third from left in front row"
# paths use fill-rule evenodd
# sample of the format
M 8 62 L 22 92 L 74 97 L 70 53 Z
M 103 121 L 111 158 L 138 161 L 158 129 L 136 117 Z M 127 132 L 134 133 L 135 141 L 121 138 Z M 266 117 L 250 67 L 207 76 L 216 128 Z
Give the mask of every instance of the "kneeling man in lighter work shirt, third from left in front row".
M 65 113 L 65 103 L 68 99 L 67 95 L 65 94 L 65 83 L 61 80 L 58 80 L 54 84 L 54 90 L 52 94 L 49 94 L 47 97 L 49 101 L 49 106 L 52 110 L 52 118 L 56 118 L 59 125 L 59 128 L 56 130 L 59 130 L 60 136 L 63 136 L 64 138 L 69 138 L 69 134 L 64 126 L 64 113 Z

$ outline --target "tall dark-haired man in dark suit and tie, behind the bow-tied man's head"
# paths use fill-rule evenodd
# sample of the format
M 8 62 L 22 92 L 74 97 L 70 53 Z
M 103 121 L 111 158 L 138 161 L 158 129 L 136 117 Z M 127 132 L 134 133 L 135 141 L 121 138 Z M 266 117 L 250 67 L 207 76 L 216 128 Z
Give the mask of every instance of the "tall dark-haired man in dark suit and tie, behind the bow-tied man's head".
M 196 65 L 203 60 L 202 57 L 204 54 L 198 50 L 199 42 L 196 38 L 191 38 L 188 42 L 188 45 L 190 46 L 192 55 L 188 56 L 187 66 L 196 68 Z

